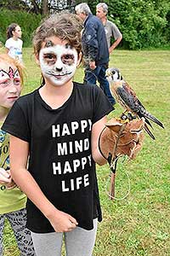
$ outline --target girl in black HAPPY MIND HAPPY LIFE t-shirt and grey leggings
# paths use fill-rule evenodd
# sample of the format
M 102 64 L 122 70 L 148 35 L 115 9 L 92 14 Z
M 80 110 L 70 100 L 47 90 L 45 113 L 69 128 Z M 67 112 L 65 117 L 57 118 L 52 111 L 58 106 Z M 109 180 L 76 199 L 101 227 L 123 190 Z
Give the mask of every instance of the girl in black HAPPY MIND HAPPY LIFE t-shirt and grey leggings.
M 98 140 L 112 107 L 97 85 L 73 81 L 81 30 L 76 15 L 42 21 L 33 38 L 42 85 L 14 103 L 3 125 L 37 256 L 60 256 L 63 236 L 66 255 L 91 256 L 102 218 L 95 163 L 105 164 Z

